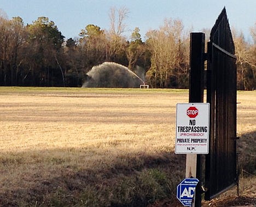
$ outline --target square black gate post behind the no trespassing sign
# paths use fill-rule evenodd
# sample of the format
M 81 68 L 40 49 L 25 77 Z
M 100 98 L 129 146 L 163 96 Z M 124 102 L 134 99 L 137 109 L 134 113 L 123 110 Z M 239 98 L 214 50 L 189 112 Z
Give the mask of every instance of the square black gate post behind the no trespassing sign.
M 203 103 L 204 70 L 205 70 L 205 34 L 190 33 L 190 74 L 189 74 L 189 103 Z M 195 164 L 196 163 L 196 164 Z M 201 155 L 187 154 L 186 178 L 197 178 L 195 201 L 192 206 L 201 206 Z

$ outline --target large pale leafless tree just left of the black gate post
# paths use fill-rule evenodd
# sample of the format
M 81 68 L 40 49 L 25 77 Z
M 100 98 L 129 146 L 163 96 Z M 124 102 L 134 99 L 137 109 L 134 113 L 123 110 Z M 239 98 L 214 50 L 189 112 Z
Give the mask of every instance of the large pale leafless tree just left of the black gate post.
M 158 31 L 147 33 L 147 45 L 152 52 L 148 78 L 154 80 L 152 86 L 175 87 L 179 84 L 178 75 L 187 74 L 187 56 L 184 53 L 182 34 L 182 21 L 172 19 L 166 19 Z

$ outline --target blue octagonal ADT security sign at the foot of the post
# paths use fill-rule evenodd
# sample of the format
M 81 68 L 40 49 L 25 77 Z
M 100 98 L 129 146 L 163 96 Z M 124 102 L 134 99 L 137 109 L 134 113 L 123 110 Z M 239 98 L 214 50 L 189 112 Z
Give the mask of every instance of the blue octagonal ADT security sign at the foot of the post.
M 184 206 L 192 205 L 198 182 L 196 178 L 186 178 L 177 186 L 177 198 Z

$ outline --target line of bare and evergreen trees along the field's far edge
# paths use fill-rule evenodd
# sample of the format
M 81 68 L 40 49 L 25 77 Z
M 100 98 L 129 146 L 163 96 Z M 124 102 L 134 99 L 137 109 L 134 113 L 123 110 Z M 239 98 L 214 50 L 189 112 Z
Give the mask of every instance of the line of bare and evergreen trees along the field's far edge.
M 142 40 L 139 28 L 125 37 L 126 8 L 110 9 L 110 28 L 87 25 L 79 38 L 65 39 L 48 17 L 24 25 L 0 14 L 0 86 L 80 87 L 86 73 L 102 62 L 115 62 L 135 70 L 144 68 L 146 83 L 153 88 L 188 88 L 189 31 L 178 19 L 166 19 Z M 203 31 L 207 35 L 209 30 Z M 237 56 L 237 88 L 256 87 L 256 22 L 252 43 L 233 31 Z

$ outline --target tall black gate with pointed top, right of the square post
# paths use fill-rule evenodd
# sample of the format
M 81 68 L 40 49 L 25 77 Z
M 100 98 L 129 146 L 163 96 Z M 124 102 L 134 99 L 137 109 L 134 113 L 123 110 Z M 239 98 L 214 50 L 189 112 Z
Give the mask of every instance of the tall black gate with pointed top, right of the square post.
M 207 45 L 207 102 L 211 104 L 210 153 L 205 199 L 236 185 L 236 57 L 225 8 Z

